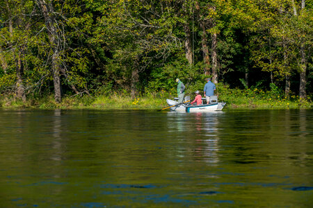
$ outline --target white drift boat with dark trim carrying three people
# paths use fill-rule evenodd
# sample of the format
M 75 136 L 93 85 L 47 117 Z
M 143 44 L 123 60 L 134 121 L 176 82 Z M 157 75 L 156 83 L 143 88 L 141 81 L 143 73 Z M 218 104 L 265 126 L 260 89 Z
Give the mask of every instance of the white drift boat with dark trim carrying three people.
M 177 100 L 178 98 L 175 98 Z M 185 98 L 185 101 L 189 100 L 189 98 Z M 202 98 L 203 101 L 206 101 L 206 98 Z M 170 110 L 178 111 L 178 112 L 211 112 L 211 111 L 218 111 L 222 110 L 224 105 L 226 103 L 218 103 L 217 96 L 211 96 L 210 97 L 210 103 L 209 104 L 202 104 L 202 105 L 190 105 L 186 103 L 178 104 L 177 101 L 173 101 L 170 99 L 166 99 L 166 103 L 168 103 L 170 107 Z

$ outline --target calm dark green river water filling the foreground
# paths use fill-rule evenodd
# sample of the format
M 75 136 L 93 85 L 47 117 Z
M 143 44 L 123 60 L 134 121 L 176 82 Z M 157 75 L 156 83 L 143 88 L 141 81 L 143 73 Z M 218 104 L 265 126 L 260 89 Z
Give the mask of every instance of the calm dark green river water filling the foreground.
M 0 207 L 311 207 L 313 110 L 0 110 Z

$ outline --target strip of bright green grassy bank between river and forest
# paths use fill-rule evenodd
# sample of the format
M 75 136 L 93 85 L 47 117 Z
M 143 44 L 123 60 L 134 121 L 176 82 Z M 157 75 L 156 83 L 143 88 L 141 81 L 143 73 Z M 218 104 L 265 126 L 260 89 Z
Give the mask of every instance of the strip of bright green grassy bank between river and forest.
M 309 109 L 312 108 L 310 97 L 300 100 L 298 96 L 290 98 L 278 92 L 264 92 L 262 89 L 226 89 L 219 88 L 218 101 L 227 103 L 225 110 L 234 109 Z M 194 94 L 191 95 L 193 99 Z M 159 110 L 167 107 L 166 98 L 174 98 L 170 93 L 158 92 L 146 94 L 132 99 L 129 95 L 112 94 L 111 96 L 64 96 L 62 103 L 56 103 L 54 96 L 43 98 L 28 98 L 26 102 L 13 96 L 2 96 L 0 106 L 5 108 L 35 108 L 35 109 L 151 109 Z

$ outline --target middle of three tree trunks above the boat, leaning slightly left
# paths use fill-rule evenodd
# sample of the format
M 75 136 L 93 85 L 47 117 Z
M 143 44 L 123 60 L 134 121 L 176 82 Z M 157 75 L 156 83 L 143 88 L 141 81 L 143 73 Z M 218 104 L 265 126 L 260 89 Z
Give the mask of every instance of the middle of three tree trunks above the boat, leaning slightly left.
M 195 9 L 197 10 L 198 18 L 200 19 L 200 28 L 202 29 L 201 35 L 201 44 L 202 44 L 202 53 L 204 60 L 204 74 L 209 76 L 210 73 L 210 58 L 209 58 L 209 48 L 207 46 L 207 30 L 202 15 L 200 14 L 200 6 L 198 1 L 195 1 Z

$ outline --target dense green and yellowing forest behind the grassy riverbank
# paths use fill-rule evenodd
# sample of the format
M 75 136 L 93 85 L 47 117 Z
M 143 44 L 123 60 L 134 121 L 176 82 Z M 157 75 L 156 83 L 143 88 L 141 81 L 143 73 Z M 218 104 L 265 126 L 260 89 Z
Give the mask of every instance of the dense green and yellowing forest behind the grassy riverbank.
M 312 0 L 1 0 L 0 94 L 313 92 Z M 175 91 L 175 90 L 174 90 Z

